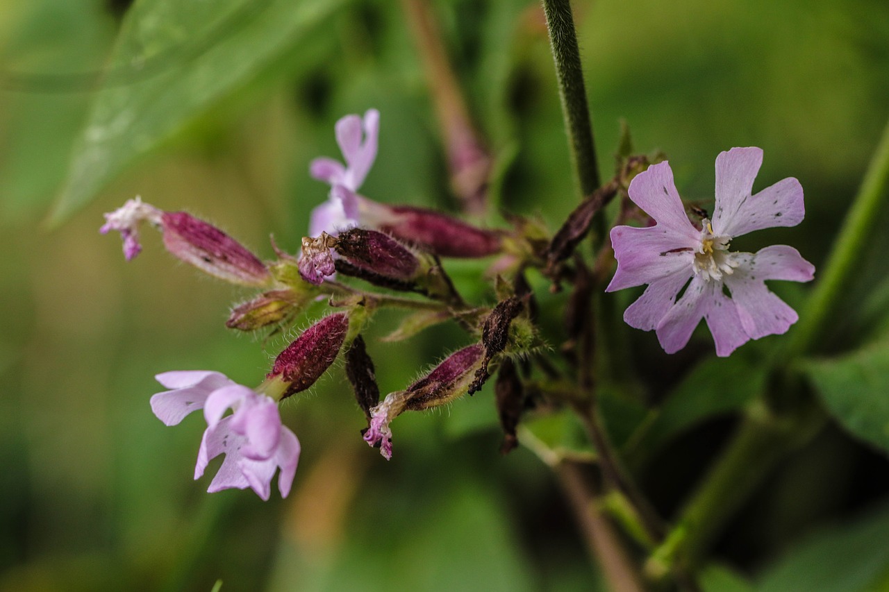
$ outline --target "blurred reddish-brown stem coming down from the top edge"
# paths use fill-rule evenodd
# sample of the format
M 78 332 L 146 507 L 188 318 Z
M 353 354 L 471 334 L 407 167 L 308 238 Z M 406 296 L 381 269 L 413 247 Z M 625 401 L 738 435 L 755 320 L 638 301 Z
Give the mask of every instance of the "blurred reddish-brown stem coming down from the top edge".
M 469 108 L 448 60 L 428 1 L 402 0 L 401 4 L 432 92 L 447 150 L 453 190 L 460 197 L 464 212 L 484 214 L 487 210 L 488 177 L 492 169 L 491 156 L 469 118 Z

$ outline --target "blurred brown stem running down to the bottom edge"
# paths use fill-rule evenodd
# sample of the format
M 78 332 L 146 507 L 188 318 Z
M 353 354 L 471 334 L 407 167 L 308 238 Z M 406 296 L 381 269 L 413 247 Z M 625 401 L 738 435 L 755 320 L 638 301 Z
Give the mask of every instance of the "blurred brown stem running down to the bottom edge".
M 583 466 L 563 460 L 555 469 L 580 524 L 589 556 L 602 567 L 608 588 L 615 592 L 643 592 L 645 588 L 621 540 L 597 508 L 597 492 L 584 478 Z

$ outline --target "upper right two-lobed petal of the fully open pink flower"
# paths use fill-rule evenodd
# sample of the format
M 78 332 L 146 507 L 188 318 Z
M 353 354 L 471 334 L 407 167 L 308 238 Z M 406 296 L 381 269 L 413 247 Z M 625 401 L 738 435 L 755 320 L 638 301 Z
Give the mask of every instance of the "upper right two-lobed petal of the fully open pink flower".
M 796 179 L 780 180 L 751 195 L 762 162 L 760 148 L 732 148 L 717 156 L 714 234 L 741 236 L 761 228 L 796 226 L 803 220 L 803 188 Z

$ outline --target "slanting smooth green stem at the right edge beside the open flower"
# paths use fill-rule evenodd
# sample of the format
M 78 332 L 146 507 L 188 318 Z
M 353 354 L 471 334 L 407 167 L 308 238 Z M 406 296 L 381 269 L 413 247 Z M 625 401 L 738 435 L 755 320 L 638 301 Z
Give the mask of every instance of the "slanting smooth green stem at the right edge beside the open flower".
M 834 317 L 837 304 L 846 286 L 857 273 L 856 260 L 872 236 L 879 210 L 889 197 L 889 124 L 870 159 L 868 171 L 861 181 L 852 209 L 846 215 L 843 228 L 834 241 L 827 263 L 821 271 L 821 280 L 815 286 L 808 304 L 800 315 L 799 324 L 790 332 L 789 343 L 783 351 L 782 361 L 812 351 L 825 325 Z

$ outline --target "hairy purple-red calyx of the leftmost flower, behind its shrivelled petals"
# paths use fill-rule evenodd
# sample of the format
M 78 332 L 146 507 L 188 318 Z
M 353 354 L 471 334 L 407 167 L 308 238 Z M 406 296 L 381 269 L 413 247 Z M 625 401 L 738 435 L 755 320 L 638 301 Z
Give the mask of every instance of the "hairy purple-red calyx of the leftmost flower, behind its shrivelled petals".
M 265 285 L 271 274 L 234 238 L 186 212 L 161 216 L 164 245 L 180 260 L 234 284 Z

